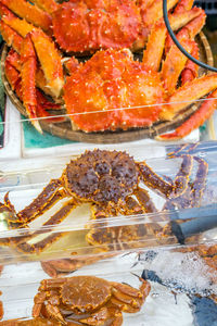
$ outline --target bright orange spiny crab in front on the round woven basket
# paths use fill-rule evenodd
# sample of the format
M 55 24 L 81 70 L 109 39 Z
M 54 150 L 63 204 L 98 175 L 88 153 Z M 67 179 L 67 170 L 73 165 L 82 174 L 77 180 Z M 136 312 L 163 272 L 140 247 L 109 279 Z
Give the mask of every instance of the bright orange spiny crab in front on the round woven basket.
M 13 0 L 0 1 L 0 3 L 5 4 L 17 15 L 25 16 L 30 21 L 31 16 L 29 17 L 26 8 L 29 4 L 26 4 L 26 1 L 24 2 L 24 9 L 21 10 L 18 5 L 15 5 Z M 35 2 L 38 5 L 41 4 L 39 0 Z M 112 3 L 111 1 L 108 4 L 112 5 Z M 159 3 L 162 3 L 162 0 L 156 1 L 156 8 L 158 8 Z M 176 3 L 177 1 L 170 1 L 171 7 Z M 155 4 L 152 1 L 149 4 L 146 3 L 145 9 L 145 3 L 140 3 L 140 13 L 145 12 L 145 28 L 149 30 L 149 40 L 142 63 L 135 62 L 131 52 L 127 49 L 100 51 L 85 64 L 78 64 L 75 58 L 73 58 L 69 63 L 66 63 L 67 66 L 71 66 L 71 76 L 66 77 L 65 83 L 61 55 L 51 38 L 46 36 L 38 27 L 34 27 L 26 21 L 14 16 L 3 4 L 0 8 L 4 13 L 1 20 L 2 35 L 8 43 L 21 53 L 21 98 L 29 117 L 39 130 L 40 125 L 37 122 L 37 116 L 40 116 L 41 111 L 40 108 L 38 109 L 40 101 L 38 100 L 36 85 L 43 90 L 49 89 L 49 92 L 54 97 L 59 97 L 63 89 L 66 112 L 74 126 L 77 129 L 88 133 L 145 127 L 159 121 L 173 120 L 187 106 L 186 102 L 190 104 L 208 92 L 214 91 L 209 96 L 212 99 L 202 104 L 195 114 L 191 116 L 190 122 L 184 123 L 171 135 L 158 137 L 158 139 L 165 140 L 180 138 L 208 118 L 216 108 L 216 100 L 213 98 L 216 97 L 217 75 L 213 74 L 195 78 L 197 75 L 196 67 L 192 66 L 176 46 L 169 41 L 162 15 L 156 12 Z M 69 1 L 58 5 L 49 1 L 43 2 L 43 4 L 41 4 L 43 9 L 50 8 L 52 22 L 54 22 L 55 15 L 62 12 L 63 8 L 74 4 L 84 5 L 84 2 Z M 50 7 L 50 4 L 52 5 Z M 101 4 L 97 1 L 93 5 L 94 10 L 90 10 L 89 14 L 93 14 L 94 16 L 94 12 L 99 13 Z M 108 5 L 107 3 L 104 4 Z M 89 3 L 86 3 L 86 5 L 89 5 Z M 122 5 L 125 7 L 125 2 L 122 2 Z M 191 53 L 195 53 L 196 55 L 197 48 L 193 39 L 204 25 L 205 14 L 197 8 L 189 10 L 191 5 L 191 0 L 181 0 L 170 14 L 170 24 L 174 29 L 179 29 L 190 22 L 178 33 L 178 38 Z M 69 11 L 66 11 L 67 13 L 64 16 L 69 15 Z M 73 9 L 71 12 L 74 13 L 75 10 Z M 156 17 L 154 17 L 153 12 Z M 150 27 L 150 14 L 153 23 L 155 23 L 153 28 Z M 59 18 L 58 22 L 60 22 Z M 33 12 L 33 20 L 35 20 L 35 11 Z M 116 25 L 118 24 L 112 24 L 112 26 Z M 71 35 L 69 32 L 68 34 Z M 116 48 L 116 46 L 112 47 Z M 161 64 L 164 49 L 166 59 L 164 64 Z M 37 58 L 40 64 L 38 64 Z M 161 72 L 158 72 L 159 68 Z M 7 71 L 7 75 L 10 79 L 9 71 Z M 182 83 L 186 84 L 183 87 L 177 89 L 180 75 Z M 37 76 L 41 76 L 42 78 Z M 46 113 L 42 112 L 41 115 L 46 116 Z

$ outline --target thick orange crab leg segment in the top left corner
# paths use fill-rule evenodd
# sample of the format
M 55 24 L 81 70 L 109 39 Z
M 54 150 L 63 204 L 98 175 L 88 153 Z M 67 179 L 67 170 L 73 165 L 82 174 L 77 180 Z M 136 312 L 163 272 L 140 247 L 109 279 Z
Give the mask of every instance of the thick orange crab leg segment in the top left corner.
M 51 27 L 51 16 L 37 8 L 36 5 L 30 4 L 25 0 L 0 0 L 2 4 L 8 7 L 13 11 L 17 16 L 25 18 L 27 22 L 33 23 L 34 25 L 41 27 L 43 30 L 50 30 Z

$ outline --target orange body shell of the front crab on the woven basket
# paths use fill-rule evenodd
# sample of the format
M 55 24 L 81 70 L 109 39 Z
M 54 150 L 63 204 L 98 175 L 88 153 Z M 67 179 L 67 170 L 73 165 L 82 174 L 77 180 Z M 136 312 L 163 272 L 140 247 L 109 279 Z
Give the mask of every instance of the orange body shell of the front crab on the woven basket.
M 152 125 L 164 93 L 159 74 L 133 61 L 128 49 L 97 52 L 64 85 L 66 111 L 85 131 Z

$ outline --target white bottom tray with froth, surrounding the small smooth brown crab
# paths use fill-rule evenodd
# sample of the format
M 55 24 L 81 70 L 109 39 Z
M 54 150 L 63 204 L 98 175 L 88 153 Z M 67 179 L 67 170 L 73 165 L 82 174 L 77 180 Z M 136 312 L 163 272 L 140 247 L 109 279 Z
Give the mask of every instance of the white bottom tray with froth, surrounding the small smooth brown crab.
M 123 326 L 215 326 L 217 272 L 212 262 L 216 261 L 216 242 L 213 242 L 209 246 L 152 249 L 127 255 L 119 254 L 82 267 L 67 277 L 97 276 L 135 288 L 141 285 L 139 277 L 148 280 L 151 291 L 141 310 L 137 313 L 124 312 Z M 210 253 L 212 258 L 204 258 Z M 0 299 L 4 314 L 0 325 L 16 326 L 20 325 L 17 322 L 8 324 L 7 321 L 31 318 L 34 297 L 40 281 L 46 278 L 48 275 L 40 263 L 36 262 L 3 268 L 0 277 Z M 55 324 L 51 322 L 51 325 Z

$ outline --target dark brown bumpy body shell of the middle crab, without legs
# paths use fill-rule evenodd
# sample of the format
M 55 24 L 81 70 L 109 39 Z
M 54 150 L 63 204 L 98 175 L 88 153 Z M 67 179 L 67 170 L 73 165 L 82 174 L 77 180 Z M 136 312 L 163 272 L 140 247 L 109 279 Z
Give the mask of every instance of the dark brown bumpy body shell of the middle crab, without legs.
M 94 150 L 71 161 L 63 176 L 72 196 L 117 203 L 137 187 L 139 172 L 126 152 Z

